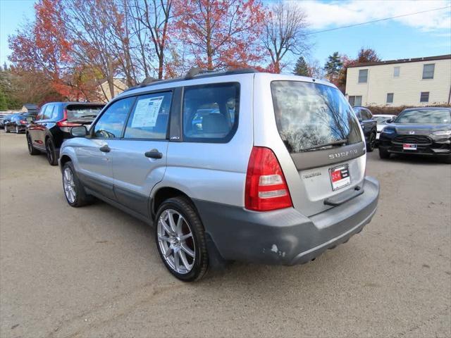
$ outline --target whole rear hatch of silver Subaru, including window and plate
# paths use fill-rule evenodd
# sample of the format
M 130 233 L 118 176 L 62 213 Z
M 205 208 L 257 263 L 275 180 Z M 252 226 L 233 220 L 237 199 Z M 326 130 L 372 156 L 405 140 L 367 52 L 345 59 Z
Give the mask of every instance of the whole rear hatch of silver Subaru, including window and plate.
M 364 139 L 341 92 L 328 84 L 277 80 L 271 95 L 278 133 L 292 160 L 280 164 L 285 173 L 294 163 L 297 174 L 285 173 L 293 206 L 314 215 L 362 193 Z

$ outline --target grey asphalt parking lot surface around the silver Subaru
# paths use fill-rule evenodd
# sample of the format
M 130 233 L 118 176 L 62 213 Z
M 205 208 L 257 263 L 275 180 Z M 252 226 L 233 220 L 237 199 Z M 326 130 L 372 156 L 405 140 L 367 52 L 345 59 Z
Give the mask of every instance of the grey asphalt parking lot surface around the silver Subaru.
M 451 165 L 368 156 L 373 221 L 294 267 L 233 263 L 175 280 L 152 228 L 98 202 L 0 132 L 1 337 L 450 337 Z

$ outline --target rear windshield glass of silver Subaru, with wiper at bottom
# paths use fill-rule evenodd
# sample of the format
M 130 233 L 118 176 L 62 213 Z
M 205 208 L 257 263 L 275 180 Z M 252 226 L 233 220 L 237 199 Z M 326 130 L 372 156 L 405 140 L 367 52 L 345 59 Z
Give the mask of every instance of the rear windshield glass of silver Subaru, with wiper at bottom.
M 362 142 L 354 111 L 338 89 L 273 81 L 271 92 L 278 131 L 290 153 Z

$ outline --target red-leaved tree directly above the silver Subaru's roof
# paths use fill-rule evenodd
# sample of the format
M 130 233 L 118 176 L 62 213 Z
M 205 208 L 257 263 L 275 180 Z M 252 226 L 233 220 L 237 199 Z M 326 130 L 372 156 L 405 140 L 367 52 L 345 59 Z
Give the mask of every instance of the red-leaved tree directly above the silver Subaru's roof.
M 200 68 L 248 67 L 261 60 L 256 37 L 265 15 L 258 0 L 177 0 L 174 14 L 178 39 Z

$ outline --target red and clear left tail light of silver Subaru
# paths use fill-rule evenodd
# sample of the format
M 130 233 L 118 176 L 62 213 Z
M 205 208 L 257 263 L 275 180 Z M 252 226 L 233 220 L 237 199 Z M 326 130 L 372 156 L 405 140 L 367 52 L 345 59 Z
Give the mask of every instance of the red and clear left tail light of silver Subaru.
M 270 211 L 292 206 L 282 168 L 271 149 L 254 146 L 246 175 L 245 208 Z

